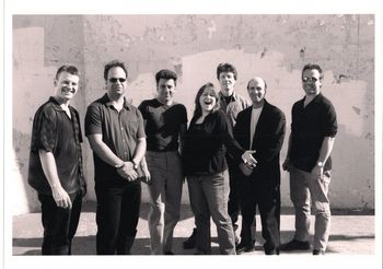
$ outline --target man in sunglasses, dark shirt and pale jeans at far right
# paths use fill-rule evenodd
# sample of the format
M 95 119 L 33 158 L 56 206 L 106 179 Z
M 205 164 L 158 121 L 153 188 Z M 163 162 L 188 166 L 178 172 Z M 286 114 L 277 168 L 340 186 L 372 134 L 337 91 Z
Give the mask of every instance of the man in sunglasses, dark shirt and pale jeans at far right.
M 321 93 L 323 73 L 318 65 L 303 67 L 302 85 L 305 96 L 292 107 L 291 134 L 283 163 L 283 169 L 290 172 L 295 235 L 280 250 L 310 249 L 311 200 L 315 214 L 313 255 L 321 255 L 325 254 L 329 235 L 330 152 L 338 128 L 334 106 Z

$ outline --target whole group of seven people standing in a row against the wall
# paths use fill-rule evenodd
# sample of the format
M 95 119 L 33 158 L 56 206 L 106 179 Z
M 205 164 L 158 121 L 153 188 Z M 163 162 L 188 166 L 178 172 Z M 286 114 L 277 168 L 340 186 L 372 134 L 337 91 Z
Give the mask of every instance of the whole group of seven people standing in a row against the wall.
M 86 194 L 80 117 L 70 106 L 79 77 L 74 66 L 61 66 L 54 80 L 55 95 L 34 117 L 28 183 L 42 203 L 43 255 L 71 254 L 81 200 Z M 199 89 L 189 125 L 185 106 L 173 100 L 177 87 L 175 72 L 160 70 L 155 74 L 156 97 L 138 107 L 125 97 L 128 70 L 124 62 L 106 63 L 104 79 L 106 93 L 89 105 L 85 115 L 85 136 L 94 161 L 98 255 L 130 254 L 139 220 L 141 180 L 148 183 L 150 196 L 151 254 L 172 255 L 185 177 L 196 224 L 190 238 L 184 242 L 185 248 L 211 254 L 211 218 L 221 254 L 254 252 L 258 207 L 266 255 L 310 249 L 312 203 L 313 254 L 325 253 L 330 220 L 329 155 L 337 122 L 332 103 L 321 93 L 320 66 L 303 68 L 305 96 L 292 108 L 282 167 L 290 172 L 295 235 L 282 245 L 279 153 L 286 118 L 266 101 L 264 79 L 255 77 L 248 81 L 249 104 L 234 91 L 235 67 L 220 63 L 220 89 L 211 82 Z M 241 241 L 236 235 L 240 212 Z

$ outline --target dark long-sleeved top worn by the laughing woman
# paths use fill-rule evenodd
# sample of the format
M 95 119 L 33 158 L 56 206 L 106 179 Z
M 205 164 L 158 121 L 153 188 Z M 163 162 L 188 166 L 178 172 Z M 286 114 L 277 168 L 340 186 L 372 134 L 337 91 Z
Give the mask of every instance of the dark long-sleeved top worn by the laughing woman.
M 240 159 L 244 153 L 234 140 L 227 115 L 214 112 L 202 124 L 193 118 L 185 138 L 183 152 L 186 175 L 213 175 L 228 168 L 225 152 Z

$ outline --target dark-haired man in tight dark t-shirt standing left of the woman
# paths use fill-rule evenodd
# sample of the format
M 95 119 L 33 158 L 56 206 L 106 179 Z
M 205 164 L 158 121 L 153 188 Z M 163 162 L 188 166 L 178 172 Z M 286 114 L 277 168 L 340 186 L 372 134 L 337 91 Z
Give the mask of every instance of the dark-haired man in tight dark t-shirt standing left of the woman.
M 148 224 L 151 253 L 171 255 L 184 182 L 178 149 L 186 131 L 187 114 L 184 105 L 173 101 L 177 74 L 161 70 L 155 82 L 156 98 L 146 100 L 138 107 L 146 122 L 146 160 L 151 174 Z

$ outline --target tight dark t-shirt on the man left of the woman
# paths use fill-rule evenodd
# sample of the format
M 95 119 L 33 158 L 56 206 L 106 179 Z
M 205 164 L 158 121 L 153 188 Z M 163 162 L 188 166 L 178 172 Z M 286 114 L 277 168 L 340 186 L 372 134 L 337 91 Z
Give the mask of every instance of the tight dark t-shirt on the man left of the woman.
M 153 98 L 143 101 L 138 109 L 146 122 L 148 151 L 177 151 L 181 126 L 187 124 L 185 106 L 167 106 Z

